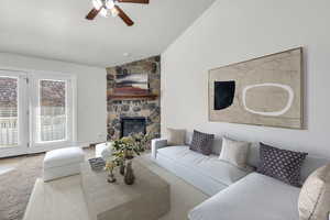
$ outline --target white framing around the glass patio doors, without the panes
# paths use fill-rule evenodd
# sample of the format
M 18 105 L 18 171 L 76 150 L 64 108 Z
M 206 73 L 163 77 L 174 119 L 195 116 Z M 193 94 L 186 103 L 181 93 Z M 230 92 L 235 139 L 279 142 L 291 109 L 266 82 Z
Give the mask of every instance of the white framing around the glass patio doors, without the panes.
M 22 154 L 33 154 L 40 152 L 46 152 L 54 148 L 62 148 L 67 146 L 73 146 L 77 144 L 77 76 L 75 74 L 66 74 L 58 72 L 41 72 L 22 69 L 10 66 L 0 66 L 1 72 L 9 72 L 10 76 L 19 77 L 22 84 L 19 86 L 19 112 L 18 116 L 21 117 L 20 128 L 19 128 L 19 140 L 18 146 L 0 147 L 0 158 L 8 156 L 16 156 Z M 4 76 L 4 75 L 3 75 Z M 6 75 L 7 76 L 7 75 Z M 35 106 L 35 98 L 33 98 L 33 89 L 37 89 L 35 86 L 35 80 L 41 79 L 67 79 L 70 81 L 70 96 L 72 96 L 72 108 L 70 110 L 70 134 L 69 138 L 64 142 L 52 142 L 52 143 L 34 143 L 33 133 L 35 132 L 33 127 L 33 106 Z M 20 95 L 25 96 L 20 96 Z M 34 102 L 33 102 L 34 100 Z

